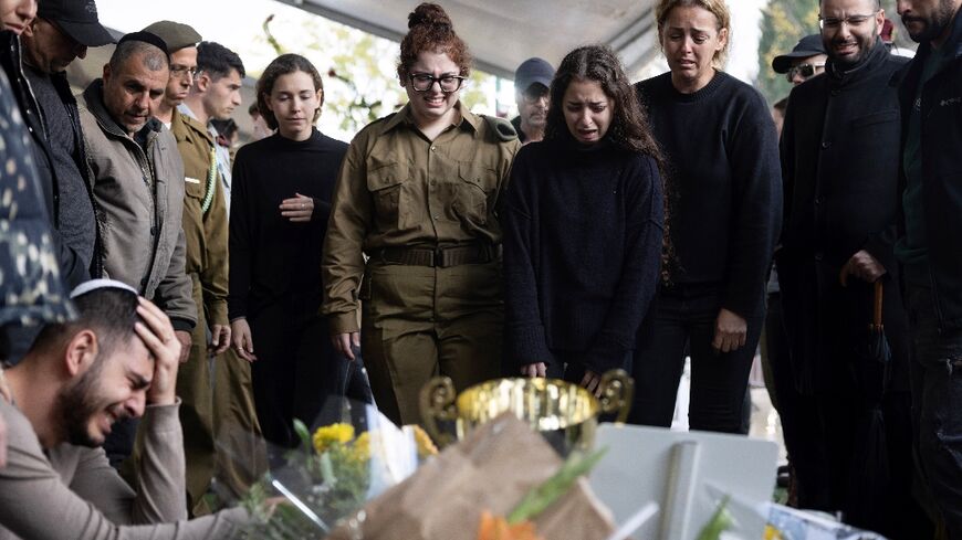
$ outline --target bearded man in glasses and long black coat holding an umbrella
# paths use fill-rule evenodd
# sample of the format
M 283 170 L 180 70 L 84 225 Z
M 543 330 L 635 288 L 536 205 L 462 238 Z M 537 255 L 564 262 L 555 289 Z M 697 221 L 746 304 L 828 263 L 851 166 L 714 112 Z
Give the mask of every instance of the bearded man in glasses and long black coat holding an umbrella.
M 883 21 L 878 0 L 823 0 L 826 73 L 788 98 L 778 278 L 794 382 L 812 396 L 818 419 L 805 425 L 805 455 L 792 457 L 801 507 L 841 510 L 847 522 L 890 538 L 924 538 L 926 519 L 908 495 L 909 342 L 892 253 L 899 160 L 892 78 L 907 61 L 879 39 Z M 870 338 L 876 282 L 883 287 L 888 368 L 858 353 Z M 883 424 L 871 422 L 879 411 Z M 870 457 L 886 451 L 887 463 Z

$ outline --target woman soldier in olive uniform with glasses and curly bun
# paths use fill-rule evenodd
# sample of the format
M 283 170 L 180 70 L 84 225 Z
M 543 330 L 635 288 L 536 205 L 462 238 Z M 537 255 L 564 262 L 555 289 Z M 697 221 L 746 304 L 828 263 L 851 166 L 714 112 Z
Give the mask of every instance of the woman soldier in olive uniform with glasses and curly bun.
M 360 346 L 378 406 L 405 424 L 420 421 L 431 377 L 461 390 L 500 373 L 495 210 L 521 146 L 510 124 L 460 103 L 471 56 L 447 13 L 422 3 L 408 27 L 398 77 L 409 102 L 351 144 L 323 260 L 334 346 L 348 359 Z

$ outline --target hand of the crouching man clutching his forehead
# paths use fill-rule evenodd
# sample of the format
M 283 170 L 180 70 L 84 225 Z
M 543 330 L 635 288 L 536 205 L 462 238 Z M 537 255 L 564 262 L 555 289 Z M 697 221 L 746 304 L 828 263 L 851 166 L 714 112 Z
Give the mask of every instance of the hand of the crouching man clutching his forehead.
M 137 321 L 134 329 L 154 357 L 154 379 L 147 390 L 147 404 L 171 405 L 177 400 L 177 369 L 180 364 L 181 340 L 170 326 L 170 319 L 149 300 L 140 298 L 137 315 L 146 322 Z M 190 333 L 187 333 L 188 339 Z

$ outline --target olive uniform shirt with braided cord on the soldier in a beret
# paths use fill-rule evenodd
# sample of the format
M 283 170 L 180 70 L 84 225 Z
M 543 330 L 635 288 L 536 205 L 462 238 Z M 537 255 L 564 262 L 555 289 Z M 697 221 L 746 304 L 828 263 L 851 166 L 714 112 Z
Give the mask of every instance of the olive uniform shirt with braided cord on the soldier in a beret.
M 174 109 L 170 131 L 184 160 L 185 271 L 200 279 L 208 324 L 227 325 L 227 204 L 216 165 L 211 169 L 215 141 L 206 126 L 178 109 Z

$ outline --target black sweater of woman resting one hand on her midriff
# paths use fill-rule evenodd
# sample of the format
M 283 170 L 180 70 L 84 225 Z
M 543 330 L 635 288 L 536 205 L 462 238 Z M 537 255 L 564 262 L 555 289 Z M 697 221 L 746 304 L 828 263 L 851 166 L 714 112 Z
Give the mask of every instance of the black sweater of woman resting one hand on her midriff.
M 304 141 L 275 134 L 238 150 L 230 200 L 231 320 L 276 301 L 299 315 L 317 310 L 321 245 L 346 152 L 345 142 L 317 130 Z M 281 216 L 281 201 L 295 193 L 314 198 L 310 223 Z

